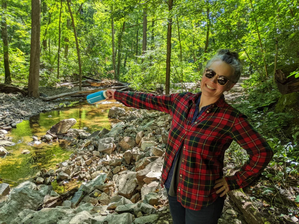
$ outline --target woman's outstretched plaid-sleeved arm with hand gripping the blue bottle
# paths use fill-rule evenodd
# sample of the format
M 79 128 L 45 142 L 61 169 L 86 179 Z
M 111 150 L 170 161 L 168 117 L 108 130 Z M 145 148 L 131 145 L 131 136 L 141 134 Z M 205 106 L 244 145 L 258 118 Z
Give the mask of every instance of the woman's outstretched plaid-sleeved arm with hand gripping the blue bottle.
M 156 110 L 169 113 L 173 105 L 176 95 L 174 93 L 170 95 L 155 95 L 152 93 L 134 93 L 123 92 L 119 90 L 107 90 L 107 100 L 115 99 L 127 107 L 133 107 L 137 109 Z

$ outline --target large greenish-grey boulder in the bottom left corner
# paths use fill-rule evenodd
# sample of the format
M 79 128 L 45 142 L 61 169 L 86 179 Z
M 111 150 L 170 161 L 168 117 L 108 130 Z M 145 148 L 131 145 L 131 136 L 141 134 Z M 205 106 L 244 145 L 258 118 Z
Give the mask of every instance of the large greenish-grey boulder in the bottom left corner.
M 0 208 L 0 221 L 10 224 L 24 209 L 37 210 L 44 195 L 30 188 L 14 188 L 8 199 Z

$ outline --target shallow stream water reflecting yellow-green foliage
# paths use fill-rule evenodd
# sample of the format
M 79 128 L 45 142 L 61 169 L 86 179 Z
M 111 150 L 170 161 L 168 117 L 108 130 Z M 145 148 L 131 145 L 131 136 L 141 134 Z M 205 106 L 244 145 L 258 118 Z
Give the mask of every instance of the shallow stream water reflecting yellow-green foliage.
M 72 107 L 40 113 L 17 124 L 17 128 L 12 130 L 10 136 L 13 137 L 13 142 L 19 142 L 19 144 L 7 147 L 6 149 L 10 154 L 0 157 L 0 178 L 23 182 L 34 176 L 40 169 L 55 169 L 57 163 L 68 159 L 72 151 L 62 142 L 52 145 L 46 143 L 32 144 L 33 135 L 38 137 L 44 135 L 52 125 L 62 119 L 74 118 L 77 123 L 72 128 L 87 127 L 87 131 L 91 133 L 103 128 L 110 130 L 112 122 L 119 122 L 107 117 L 109 108 L 120 106 L 119 104 L 89 105 L 75 103 L 72 105 Z M 125 108 L 122 105 L 120 107 Z M 126 110 L 128 109 L 126 108 Z M 48 117 L 49 115 L 52 117 Z M 24 149 L 29 150 L 30 154 L 21 154 Z

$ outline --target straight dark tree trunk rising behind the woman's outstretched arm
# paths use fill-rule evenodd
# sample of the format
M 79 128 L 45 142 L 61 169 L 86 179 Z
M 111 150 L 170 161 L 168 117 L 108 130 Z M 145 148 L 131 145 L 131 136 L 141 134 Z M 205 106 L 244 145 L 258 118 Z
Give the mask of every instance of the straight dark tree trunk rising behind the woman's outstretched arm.
M 171 14 L 173 7 L 173 0 L 168 0 L 168 10 Z M 170 59 L 171 59 L 171 29 L 172 29 L 172 17 L 168 19 L 167 26 L 167 53 L 166 53 L 166 78 L 165 78 L 165 94 L 170 93 Z

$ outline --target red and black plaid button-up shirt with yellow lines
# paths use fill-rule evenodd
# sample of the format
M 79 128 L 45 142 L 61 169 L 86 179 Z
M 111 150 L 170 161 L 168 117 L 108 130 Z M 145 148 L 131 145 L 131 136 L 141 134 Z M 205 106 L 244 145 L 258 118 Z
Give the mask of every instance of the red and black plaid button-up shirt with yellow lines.
M 240 171 L 225 177 L 229 190 L 248 185 L 273 157 L 267 141 L 247 121 L 247 116 L 225 102 L 224 95 L 191 123 L 195 101 L 200 94 L 154 95 L 118 90 L 114 93 L 114 98 L 127 107 L 164 111 L 171 115 L 161 186 L 183 143 L 177 200 L 192 210 L 200 210 L 219 197 L 213 187 L 215 180 L 223 177 L 224 153 L 233 140 L 246 150 L 249 159 Z

